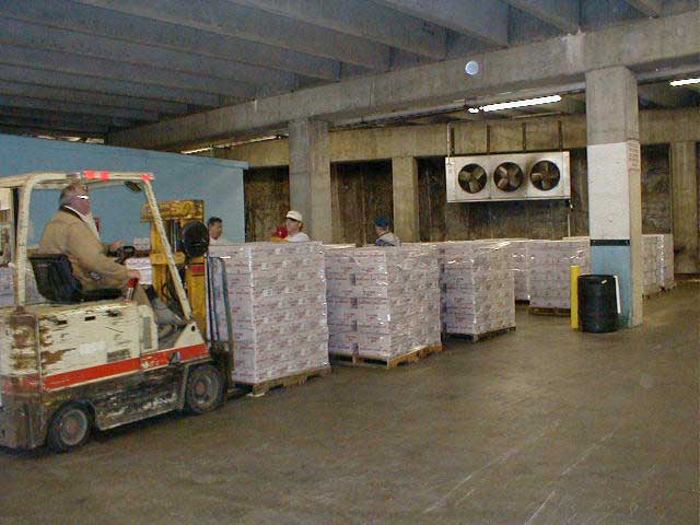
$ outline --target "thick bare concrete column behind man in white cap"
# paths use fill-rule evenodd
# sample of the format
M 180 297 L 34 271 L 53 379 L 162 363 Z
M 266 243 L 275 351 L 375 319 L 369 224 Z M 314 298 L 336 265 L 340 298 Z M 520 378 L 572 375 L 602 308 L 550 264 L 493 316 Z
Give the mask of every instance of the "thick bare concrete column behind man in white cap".
M 304 215 L 313 241 L 332 242 L 328 124 L 295 120 L 289 125 L 289 191 L 292 209 Z

